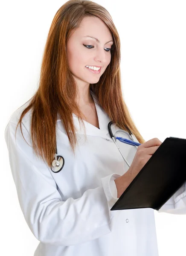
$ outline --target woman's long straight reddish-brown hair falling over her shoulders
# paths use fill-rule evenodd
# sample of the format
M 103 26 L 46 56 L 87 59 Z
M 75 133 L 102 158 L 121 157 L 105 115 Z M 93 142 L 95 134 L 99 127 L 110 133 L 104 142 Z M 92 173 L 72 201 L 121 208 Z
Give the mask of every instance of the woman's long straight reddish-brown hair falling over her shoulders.
M 52 20 L 44 48 L 38 90 L 21 113 L 17 123 L 17 126 L 20 124 L 23 135 L 21 122 L 23 116 L 31 109 L 30 131 L 33 149 L 48 166 L 51 166 L 56 150 L 57 114 L 67 132 L 73 152 L 77 143 L 73 113 L 84 125 L 84 115 L 74 100 L 77 97 L 78 88 L 67 65 L 66 44 L 71 33 L 87 16 L 102 19 L 113 36 L 110 64 L 99 81 L 96 84 L 90 84 L 90 90 L 96 95 L 99 105 L 113 123 L 124 130 L 126 127 L 129 128 L 139 143 L 145 142 L 130 116 L 122 95 L 120 39 L 109 12 L 103 6 L 89 0 L 70 0 L 58 9 Z

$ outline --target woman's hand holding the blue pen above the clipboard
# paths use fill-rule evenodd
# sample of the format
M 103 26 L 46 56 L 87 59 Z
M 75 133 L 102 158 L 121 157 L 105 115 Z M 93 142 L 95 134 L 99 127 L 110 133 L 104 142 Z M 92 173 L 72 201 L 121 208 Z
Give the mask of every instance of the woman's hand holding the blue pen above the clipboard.
M 126 173 L 134 179 L 161 144 L 160 140 L 154 138 L 139 145 L 131 166 Z

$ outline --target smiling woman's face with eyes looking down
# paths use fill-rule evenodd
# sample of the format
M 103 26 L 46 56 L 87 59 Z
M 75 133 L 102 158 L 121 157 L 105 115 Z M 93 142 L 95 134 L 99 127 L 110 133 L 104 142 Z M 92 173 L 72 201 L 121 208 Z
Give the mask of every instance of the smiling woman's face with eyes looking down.
M 87 37 L 87 35 L 97 38 Z M 98 17 L 85 17 L 67 42 L 69 68 L 81 87 L 95 84 L 110 63 L 112 34 Z M 87 46 L 88 45 L 88 46 Z M 100 73 L 93 73 L 85 66 L 101 66 Z

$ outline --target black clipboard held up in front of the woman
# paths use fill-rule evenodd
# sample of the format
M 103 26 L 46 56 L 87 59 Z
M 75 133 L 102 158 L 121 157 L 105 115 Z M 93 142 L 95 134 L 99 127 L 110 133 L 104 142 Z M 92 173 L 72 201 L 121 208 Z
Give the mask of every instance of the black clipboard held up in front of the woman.
M 185 181 L 186 139 L 166 138 L 110 210 L 159 210 Z

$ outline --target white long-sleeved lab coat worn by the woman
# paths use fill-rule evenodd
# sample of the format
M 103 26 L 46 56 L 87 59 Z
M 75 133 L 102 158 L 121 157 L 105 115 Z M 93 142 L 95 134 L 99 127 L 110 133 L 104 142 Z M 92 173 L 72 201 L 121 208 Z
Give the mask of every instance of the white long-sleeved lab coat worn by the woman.
M 65 160 L 58 173 L 38 160 L 29 146 L 30 112 L 23 118 L 23 135 L 29 145 L 20 126 L 15 141 L 17 121 L 27 103 L 13 113 L 6 126 L 5 139 L 20 207 L 40 241 L 34 256 L 158 256 L 154 209 L 110 211 L 118 200 L 114 179 L 127 172 L 128 166 L 109 136 L 108 115 L 95 95 L 93 99 L 100 130 L 84 121 L 85 142 L 83 128 L 73 114 L 79 142 L 76 157 L 57 121 L 58 155 Z M 114 134 L 119 128 L 112 125 L 112 130 Z M 134 140 L 138 142 L 135 136 Z M 131 164 L 136 148 L 117 143 Z M 159 212 L 186 214 L 185 196 L 184 184 Z

